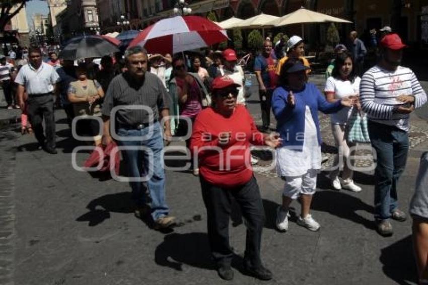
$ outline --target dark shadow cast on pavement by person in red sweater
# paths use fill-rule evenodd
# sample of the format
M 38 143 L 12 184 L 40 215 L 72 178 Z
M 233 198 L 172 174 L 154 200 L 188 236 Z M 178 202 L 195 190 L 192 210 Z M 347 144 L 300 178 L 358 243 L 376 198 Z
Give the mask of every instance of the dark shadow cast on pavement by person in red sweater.
M 216 264 L 209 251 L 206 233 L 172 233 L 164 237 L 164 241 L 155 250 L 156 264 L 182 271 L 183 264 L 216 270 Z M 234 254 L 232 267 L 243 272 L 243 258 Z

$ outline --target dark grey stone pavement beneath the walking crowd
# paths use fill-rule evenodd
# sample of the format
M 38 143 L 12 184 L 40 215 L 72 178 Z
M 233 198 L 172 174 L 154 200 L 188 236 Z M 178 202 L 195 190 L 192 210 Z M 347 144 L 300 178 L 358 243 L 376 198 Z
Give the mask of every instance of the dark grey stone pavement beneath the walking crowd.
M 322 85 L 321 76 L 311 81 Z M 258 96 L 249 109 L 260 124 Z M 10 119 L 10 110 L 0 116 Z M 329 189 L 325 173 L 318 178 L 312 214 L 319 232 L 299 227 L 292 217 L 289 232 L 274 229 L 283 181 L 274 172 L 257 171 L 266 213 L 262 258 L 274 278 L 258 281 L 241 274 L 245 227 L 234 215 L 231 244 L 237 255 L 235 278 L 226 282 L 209 257 L 206 213 L 198 178 L 167 171 L 167 200 L 179 224 L 161 233 L 134 218 L 127 183 L 78 172 L 71 155 L 62 110 L 56 111 L 58 154 L 36 150 L 35 138 L 21 136 L 12 125 L 0 136 L 0 284 L 415 284 L 411 223 L 393 222 L 395 234 L 373 230 L 373 175 L 358 172 L 361 193 Z M 273 124 L 272 124 L 273 125 Z M 321 115 L 324 165 L 334 153 L 328 118 Z M 408 210 L 418 157 L 428 148 L 426 121 L 412 116 L 412 149 L 400 180 L 399 202 Z M 261 157 L 259 165 L 268 164 Z M 169 154 L 173 155 L 173 154 Z M 79 153 L 82 165 L 88 156 Z M 166 165 L 177 166 L 166 155 Z M 183 162 L 184 163 L 184 162 Z M 296 215 L 300 205 L 294 202 Z

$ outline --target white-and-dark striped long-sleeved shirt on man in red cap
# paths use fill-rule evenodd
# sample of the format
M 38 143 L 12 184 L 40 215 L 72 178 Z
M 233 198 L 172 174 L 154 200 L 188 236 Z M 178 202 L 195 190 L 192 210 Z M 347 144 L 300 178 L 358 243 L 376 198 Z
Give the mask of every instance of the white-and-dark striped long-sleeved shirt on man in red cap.
M 409 68 L 398 66 L 390 71 L 376 65 L 363 75 L 360 100 L 369 120 L 408 131 L 409 114 L 394 112 L 403 104 L 396 99 L 400 95 L 413 95 L 415 108 L 426 103 L 425 91 Z

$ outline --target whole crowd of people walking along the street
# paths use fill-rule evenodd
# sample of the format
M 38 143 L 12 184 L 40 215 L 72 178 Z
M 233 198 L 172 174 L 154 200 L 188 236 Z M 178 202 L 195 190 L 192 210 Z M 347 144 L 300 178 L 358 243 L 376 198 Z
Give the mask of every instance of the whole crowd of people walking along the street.
M 100 66 L 92 59 L 78 63 L 61 60 L 54 51 L 49 53 L 49 61 L 43 62 L 40 49 L 30 48 L 28 63 L 14 66 L 5 57 L 0 58 L 0 84 L 8 108 L 22 109 L 23 134 L 34 132 L 40 149 L 47 153 L 57 153 L 55 106 L 63 108 L 70 127 L 79 119 L 76 133 L 93 137 L 94 146 L 116 141 L 129 147 L 121 153 L 132 178 L 135 214 L 150 217 L 154 229 L 169 228 L 175 222 L 166 202 L 161 161 L 164 141 L 168 144 L 173 136 L 186 137 L 191 170 L 200 179 L 209 245 L 218 274 L 227 280 L 234 274 L 228 229 L 234 199 L 246 220 L 244 268 L 268 280 L 272 273 L 260 256 L 265 216 L 250 146 L 276 149 L 277 174 L 284 180 L 276 217 L 268 218 L 275 219 L 279 231 L 288 231 L 290 205 L 300 199 L 297 224 L 318 231 L 321 225 L 310 212 L 322 159 L 319 111 L 330 114 L 338 149 L 329 175 L 331 187 L 362 191 L 352 179 L 350 158 L 355 142 L 349 137 L 351 119 L 359 116 L 366 121 L 370 134 L 366 142 L 371 142 L 377 154 L 376 229 L 382 236 L 390 236 L 390 219 L 407 218 L 398 207 L 397 185 L 409 149 L 409 114 L 426 103 L 426 94 L 412 70 L 400 65 L 406 45 L 397 34 L 390 32 L 379 39 L 379 61 L 366 72 L 364 43 L 356 32 L 349 38 L 350 47 L 335 47 L 335 58 L 326 70 L 324 93 L 310 82 L 311 64 L 305 58 L 304 39 L 294 35 L 276 44 L 266 39 L 253 66 L 262 112 L 258 128 L 246 107 L 250 94 L 244 88 L 244 70 L 232 48 L 211 51 L 207 57 L 183 57 L 150 55 L 137 46 L 128 48 L 123 56 L 104 56 Z M 135 108 L 138 106 L 144 108 Z M 276 119 L 274 128 L 271 112 Z M 102 129 L 97 120 L 87 122 L 93 116 L 103 120 Z M 144 149 L 150 149 L 150 154 Z M 426 164 L 425 156 L 411 207 L 421 280 L 428 279 Z M 147 174 L 150 177 L 143 182 Z

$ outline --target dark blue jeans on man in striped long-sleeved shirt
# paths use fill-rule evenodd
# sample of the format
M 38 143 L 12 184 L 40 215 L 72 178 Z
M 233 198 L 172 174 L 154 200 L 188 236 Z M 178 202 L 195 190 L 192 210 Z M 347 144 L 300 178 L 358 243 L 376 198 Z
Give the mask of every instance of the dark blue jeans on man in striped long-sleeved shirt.
M 375 219 L 386 220 L 397 208 L 397 185 L 409 150 L 407 132 L 393 126 L 368 123 L 372 147 L 377 152 L 375 170 Z

